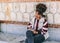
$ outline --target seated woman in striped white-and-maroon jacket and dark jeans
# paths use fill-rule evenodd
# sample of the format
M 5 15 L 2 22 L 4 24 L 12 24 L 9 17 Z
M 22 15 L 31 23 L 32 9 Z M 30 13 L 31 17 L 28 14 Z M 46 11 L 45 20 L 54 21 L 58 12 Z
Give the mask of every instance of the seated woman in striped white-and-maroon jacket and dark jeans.
M 35 17 L 28 24 L 26 32 L 26 43 L 42 43 L 48 38 L 48 23 L 43 13 L 47 7 L 44 4 L 36 5 Z

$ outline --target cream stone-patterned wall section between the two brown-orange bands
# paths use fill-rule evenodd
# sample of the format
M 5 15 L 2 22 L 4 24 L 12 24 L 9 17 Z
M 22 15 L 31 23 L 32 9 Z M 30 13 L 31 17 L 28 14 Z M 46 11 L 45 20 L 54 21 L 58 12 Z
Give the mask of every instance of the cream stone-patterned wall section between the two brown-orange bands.
M 0 20 L 29 22 L 35 14 L 35 6 L 44 3 L 47 6 L 48 23 L 60 24 L 60 2 L 14 2 L 0 3 Z

